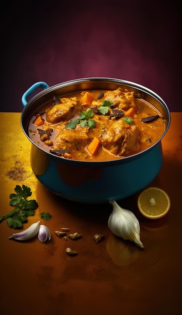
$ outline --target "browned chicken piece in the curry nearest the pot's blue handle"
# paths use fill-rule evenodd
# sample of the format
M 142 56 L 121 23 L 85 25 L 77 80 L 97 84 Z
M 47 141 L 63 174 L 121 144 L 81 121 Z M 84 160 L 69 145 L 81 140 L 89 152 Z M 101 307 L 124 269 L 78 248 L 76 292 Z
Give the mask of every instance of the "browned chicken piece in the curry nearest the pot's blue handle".
M 56 124 L 60 121 L 70 120 L 82 110 L 76 97 L 62 98 L 60 102 L 60 104 L 52 106 L 49 111 L 46 112 L 46 120 L 49 123 Z

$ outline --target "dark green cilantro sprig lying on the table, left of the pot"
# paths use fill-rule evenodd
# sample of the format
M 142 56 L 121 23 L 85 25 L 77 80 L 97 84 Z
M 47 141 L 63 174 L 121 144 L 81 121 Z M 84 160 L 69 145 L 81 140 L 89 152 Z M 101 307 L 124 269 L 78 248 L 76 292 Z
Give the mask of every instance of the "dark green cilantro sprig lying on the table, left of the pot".
M 36 200 L 27 198 L 32 195 L 31 189 L 25 185 L 15 187 L 15 193 L 10 194 L 10 205 L 14 209 L 2 216 L 0 216 L 0 222 L 7 219 L 9 227 L 22 228 L 23 223 L 28 221 L 28 216 L 35 214 L 35 209 L 38 208 Z

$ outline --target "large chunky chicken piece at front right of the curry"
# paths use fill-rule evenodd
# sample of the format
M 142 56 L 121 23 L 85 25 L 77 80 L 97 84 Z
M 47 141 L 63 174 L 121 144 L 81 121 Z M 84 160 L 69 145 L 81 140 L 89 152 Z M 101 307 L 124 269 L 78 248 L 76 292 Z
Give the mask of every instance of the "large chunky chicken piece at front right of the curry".
M 127 155 L 139 149 L 139 130 L 135 125 L 128 125 L 119 120 L 114 123 L 103 137 L 103 147 L 114 155 Z

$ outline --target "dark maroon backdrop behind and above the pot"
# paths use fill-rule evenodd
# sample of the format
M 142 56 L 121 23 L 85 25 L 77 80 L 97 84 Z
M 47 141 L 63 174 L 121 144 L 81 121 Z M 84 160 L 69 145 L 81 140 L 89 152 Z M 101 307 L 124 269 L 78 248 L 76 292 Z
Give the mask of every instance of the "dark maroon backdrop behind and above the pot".
M 15 1 L 1 10 L 1 111 L 22 95 L 88 76 L 132 81 L 181 111 L 180 1 Z

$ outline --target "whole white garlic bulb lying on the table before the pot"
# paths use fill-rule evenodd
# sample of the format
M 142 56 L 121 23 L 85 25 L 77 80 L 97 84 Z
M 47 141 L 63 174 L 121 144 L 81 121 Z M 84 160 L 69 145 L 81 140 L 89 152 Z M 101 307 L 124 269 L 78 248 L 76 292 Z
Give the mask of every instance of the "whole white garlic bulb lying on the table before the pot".
M 113 206 L 108 218 L 109 229 L 118 237 L 135 242 L 143 249 L 144 246 L 140 241 L 140 224 L 135 214 L 121 208 L 115 200 L 110 200 L 109 203 Z

